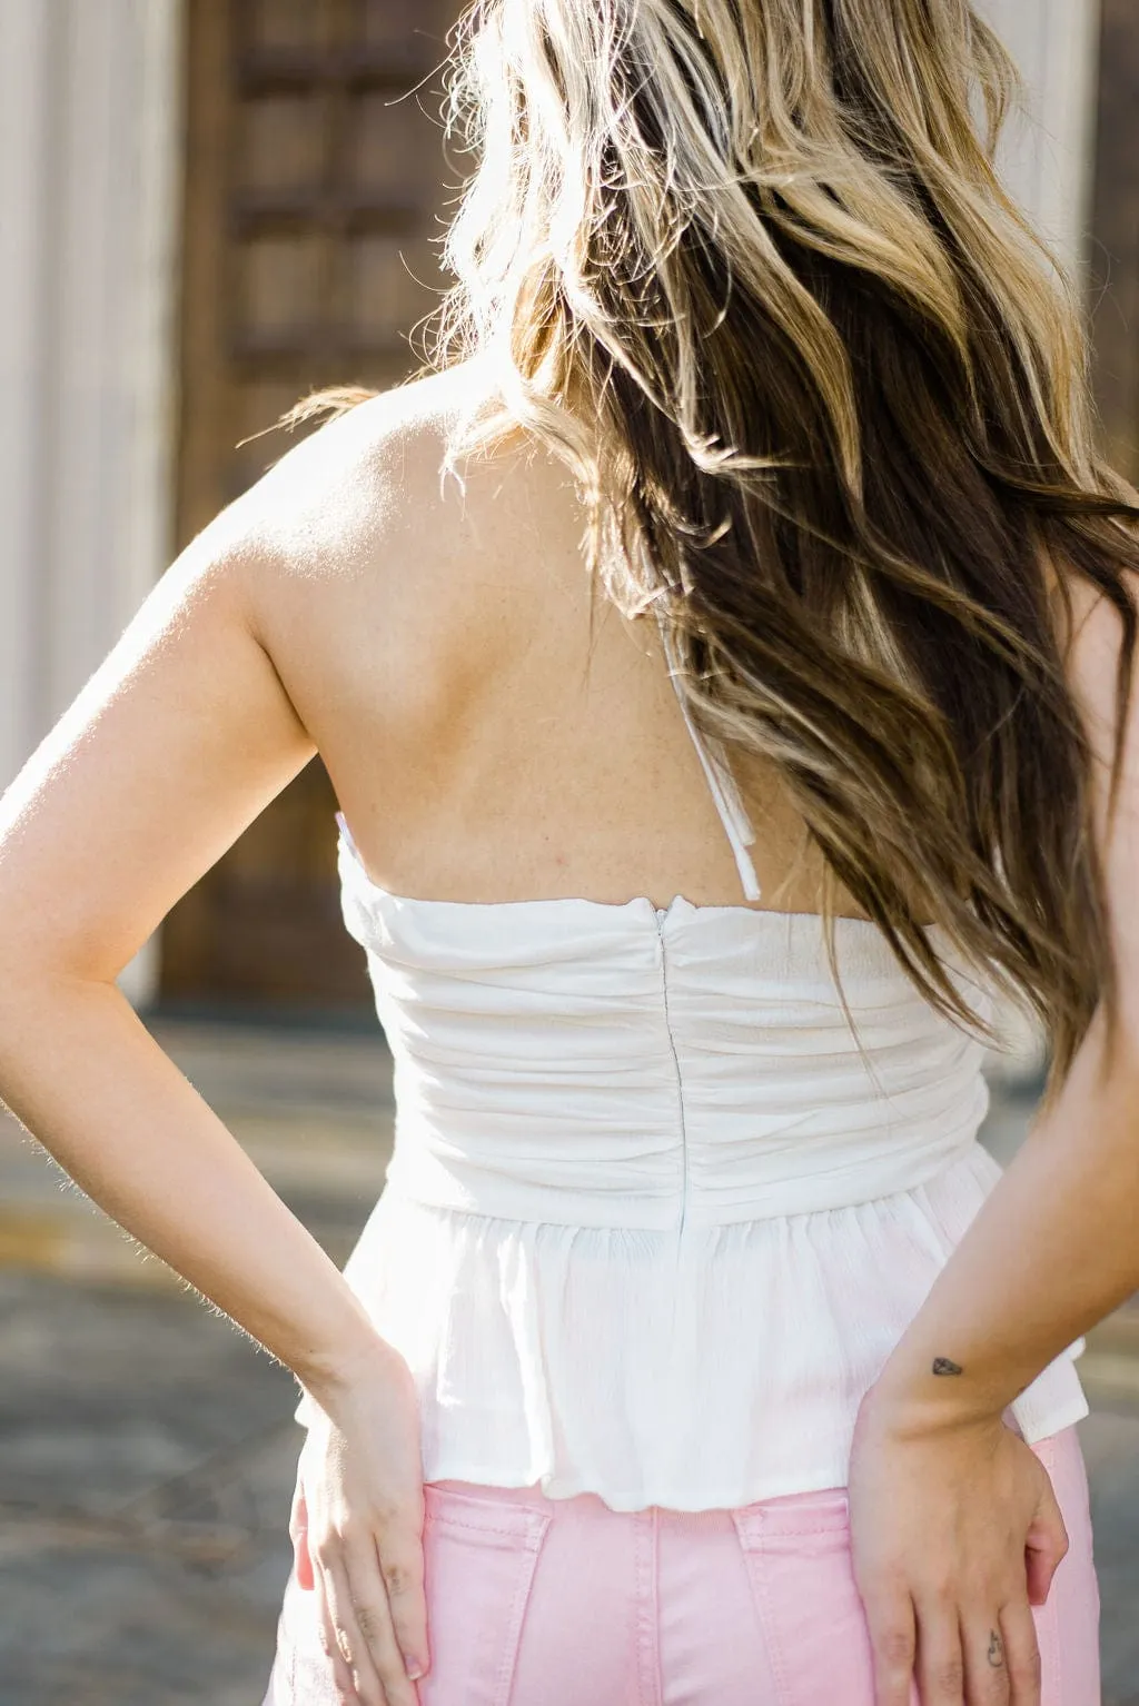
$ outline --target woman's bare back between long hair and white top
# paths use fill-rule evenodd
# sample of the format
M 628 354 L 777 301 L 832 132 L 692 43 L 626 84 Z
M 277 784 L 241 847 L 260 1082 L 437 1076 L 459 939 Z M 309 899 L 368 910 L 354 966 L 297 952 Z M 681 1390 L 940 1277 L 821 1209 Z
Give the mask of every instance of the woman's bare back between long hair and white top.
M 469 462 L 465 490 L 440 483 L 457 384 L 460 370 L 404 392 L 401 478 L 377 469 L 372 495 L 356 486 L 339 566 L 298 568 L 263 606 L 264 643 L 370 875 L 431 899 L 740 904 L 656 624 L 598 597 L 590 636 L 568 473 L 515 445 Z M 390 432 L 385 401 L 365 404 L 353 456 L 385 464 L 368 409 Z M 817 911 L 818 860 L 803 856 L 796 815 L 772 776 L 733 768 L 762 904 Z

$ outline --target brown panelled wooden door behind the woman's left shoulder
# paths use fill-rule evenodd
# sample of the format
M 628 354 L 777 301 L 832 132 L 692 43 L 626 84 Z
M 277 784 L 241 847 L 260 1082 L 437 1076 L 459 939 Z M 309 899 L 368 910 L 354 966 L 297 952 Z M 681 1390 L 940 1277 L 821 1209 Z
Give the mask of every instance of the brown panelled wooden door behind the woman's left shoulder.
M 442 285 L 440 67 L 459 0 L 189 0 L 179 543 L 329 384 L 384 387 Z M 435 239 L 435 241 L 431 241 Z M 367 998 L 315 761 L 171 913 L 162 1001 Z

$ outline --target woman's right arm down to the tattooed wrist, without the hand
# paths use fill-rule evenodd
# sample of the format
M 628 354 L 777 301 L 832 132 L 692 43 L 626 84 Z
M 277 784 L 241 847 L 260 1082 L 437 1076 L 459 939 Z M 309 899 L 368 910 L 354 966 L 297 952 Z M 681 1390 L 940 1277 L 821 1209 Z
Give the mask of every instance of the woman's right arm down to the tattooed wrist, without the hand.
M 1117 618 L 1083 623 L 1073 679 L 1096 749 L 1098 821 L 1122 1022 L 1096 1015 L 1047 1116 L 1009 1163 L 895 1348 L 876 1399 L 921 1426 L 999 1414 L 1054 1356 L 1139 1288 L 1139 689 L 1107 827 Z M 934 1358 L 960 1367 L 933 1373 Z

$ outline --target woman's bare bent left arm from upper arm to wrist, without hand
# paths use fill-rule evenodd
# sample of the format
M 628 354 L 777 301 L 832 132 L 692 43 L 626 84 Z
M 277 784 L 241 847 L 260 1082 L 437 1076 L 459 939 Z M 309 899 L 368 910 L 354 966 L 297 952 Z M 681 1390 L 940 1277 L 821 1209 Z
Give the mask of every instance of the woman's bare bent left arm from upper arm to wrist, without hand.
M 324 1387 L 373 1343 L 360 1305 L 114 983 L 314 752 L 220 532 L 3 797 L 0 1094 L 109 1215 Z

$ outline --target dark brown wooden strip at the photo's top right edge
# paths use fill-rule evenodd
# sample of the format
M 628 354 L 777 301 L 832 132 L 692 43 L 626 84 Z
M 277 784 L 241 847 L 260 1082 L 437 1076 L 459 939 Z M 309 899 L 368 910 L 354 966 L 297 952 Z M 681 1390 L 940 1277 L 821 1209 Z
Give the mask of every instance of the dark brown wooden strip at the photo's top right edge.
M 1139 481 L 1139 12 L 1100 0 L 1091 215 L 1095 384 L 1112 461 Z

